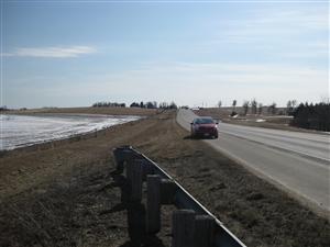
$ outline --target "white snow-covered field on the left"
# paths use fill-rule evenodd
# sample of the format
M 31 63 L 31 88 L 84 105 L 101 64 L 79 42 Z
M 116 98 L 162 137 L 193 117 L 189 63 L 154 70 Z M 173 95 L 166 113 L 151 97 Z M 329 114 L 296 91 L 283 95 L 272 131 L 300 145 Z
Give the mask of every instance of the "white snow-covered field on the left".
M 0 114 L 0 150 L 61 139 L 139 119 L 141 116 L 84 114 L 26 116 Z

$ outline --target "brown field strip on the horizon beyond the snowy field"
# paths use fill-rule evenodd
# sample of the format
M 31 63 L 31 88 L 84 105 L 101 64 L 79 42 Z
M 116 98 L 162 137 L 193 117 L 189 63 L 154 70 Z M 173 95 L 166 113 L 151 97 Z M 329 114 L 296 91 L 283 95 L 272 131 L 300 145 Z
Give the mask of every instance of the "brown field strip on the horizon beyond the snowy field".
M 153 115 L 156 109 L 141 108 L 40 108 L 4 111 L 4 114 L 105 114 L 105 115 Z

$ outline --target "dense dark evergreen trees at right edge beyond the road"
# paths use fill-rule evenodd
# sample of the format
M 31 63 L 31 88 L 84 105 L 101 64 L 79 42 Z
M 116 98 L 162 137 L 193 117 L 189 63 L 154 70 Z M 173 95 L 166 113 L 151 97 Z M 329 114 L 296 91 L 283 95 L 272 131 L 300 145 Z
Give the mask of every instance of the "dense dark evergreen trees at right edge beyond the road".
M 330 131 L 330 103 L 300 103 L 293 110 L 293 125 L 302 128 Z

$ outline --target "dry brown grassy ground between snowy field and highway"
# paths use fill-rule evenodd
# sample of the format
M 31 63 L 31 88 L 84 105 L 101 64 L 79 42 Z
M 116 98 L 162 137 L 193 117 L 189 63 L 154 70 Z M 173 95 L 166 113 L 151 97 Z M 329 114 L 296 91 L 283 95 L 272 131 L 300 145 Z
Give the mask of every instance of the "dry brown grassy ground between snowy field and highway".
M 174 111 L 97 137 L 2 155 L 0 246 L 170 246 L 170 206 L 156 236 L 139 239 L 128 227 L 131 205 L 121 203 L 122 177 L 113 172 L 111 153 L 120 145 L 158 162 L 248 246 L 329 246 L 329 220 L 190 139 Z

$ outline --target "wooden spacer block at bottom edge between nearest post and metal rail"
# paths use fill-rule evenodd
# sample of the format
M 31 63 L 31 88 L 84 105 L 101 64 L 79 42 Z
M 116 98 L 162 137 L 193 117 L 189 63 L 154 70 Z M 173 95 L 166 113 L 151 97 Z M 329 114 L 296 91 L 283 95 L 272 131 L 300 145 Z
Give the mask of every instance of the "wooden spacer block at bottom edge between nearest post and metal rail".
M 215 218 L 210 215 L 196 215 L 194 247 L 211 247 L 213 245 Z

